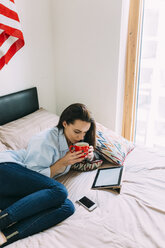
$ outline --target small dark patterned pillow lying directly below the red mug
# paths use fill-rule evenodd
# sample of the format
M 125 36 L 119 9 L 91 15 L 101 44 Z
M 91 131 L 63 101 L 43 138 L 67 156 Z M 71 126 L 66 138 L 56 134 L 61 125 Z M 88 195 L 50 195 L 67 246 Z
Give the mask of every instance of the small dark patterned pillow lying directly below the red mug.
M 91 171 L 97 169 L 100 165 L 102 165 L 102 160 L 94 160 L 91 162 L 82 161 L 81 163 L 76 163 L 71 166 L 72 170 L 76 171 Z

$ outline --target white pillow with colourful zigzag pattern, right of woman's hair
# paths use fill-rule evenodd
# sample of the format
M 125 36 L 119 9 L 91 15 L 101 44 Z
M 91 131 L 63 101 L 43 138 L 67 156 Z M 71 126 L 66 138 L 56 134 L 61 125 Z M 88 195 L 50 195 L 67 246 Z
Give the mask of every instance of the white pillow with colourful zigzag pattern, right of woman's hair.
M 107 161 L 123 165 L 135 145 L 100 123 L 96 123 L 96 150 Z

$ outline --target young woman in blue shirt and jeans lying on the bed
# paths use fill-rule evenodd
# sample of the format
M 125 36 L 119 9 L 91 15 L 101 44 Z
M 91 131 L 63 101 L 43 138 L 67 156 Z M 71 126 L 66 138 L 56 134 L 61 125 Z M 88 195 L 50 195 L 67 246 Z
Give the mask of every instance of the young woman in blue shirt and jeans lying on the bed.
M 0 153 L 0 247 L 46 230 L 74 213 L 67 190 L 55 178 L 81 162 L 69 146 L 85 141 L 94 159 L 95 121 L 83 104 L 72 104 L 57 127 L 35 135 L 26 150 Z

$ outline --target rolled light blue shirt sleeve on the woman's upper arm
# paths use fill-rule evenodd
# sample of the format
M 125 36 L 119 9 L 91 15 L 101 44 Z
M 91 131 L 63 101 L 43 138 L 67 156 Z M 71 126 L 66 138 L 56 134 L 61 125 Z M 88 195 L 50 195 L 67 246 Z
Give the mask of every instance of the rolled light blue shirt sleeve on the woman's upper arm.
M 50 166 L 57 160 L 59 153 L 51 141 L 49 133 L 41 133 L 30 140 L 24 161 L 28 169 L 50 177 Z

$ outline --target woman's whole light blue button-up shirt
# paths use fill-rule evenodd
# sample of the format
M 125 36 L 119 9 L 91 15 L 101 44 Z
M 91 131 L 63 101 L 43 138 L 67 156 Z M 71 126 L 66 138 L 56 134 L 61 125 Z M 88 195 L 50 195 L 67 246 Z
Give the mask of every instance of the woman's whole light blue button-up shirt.
M 64 157 L 68 151 L 69 147 L 63 130 L 54 127 L 33 136 L 27 149 L 0 152 L 0 163 L 18 163 L 50 177 L 50 166 Z M 70 167 L 71 165 L 68 165 L 62 173 L 57 174 L 54 178 L 66 174 Z

